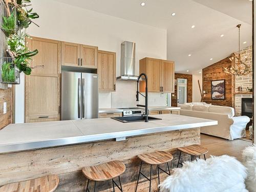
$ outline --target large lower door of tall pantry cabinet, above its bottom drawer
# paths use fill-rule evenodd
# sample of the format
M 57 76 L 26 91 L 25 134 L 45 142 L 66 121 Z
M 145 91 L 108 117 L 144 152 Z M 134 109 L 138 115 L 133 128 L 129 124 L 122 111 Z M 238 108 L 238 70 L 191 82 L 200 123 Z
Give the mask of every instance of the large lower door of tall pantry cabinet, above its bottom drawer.
M 26 116 L 58 113 L 58 77 L 27 76 Z

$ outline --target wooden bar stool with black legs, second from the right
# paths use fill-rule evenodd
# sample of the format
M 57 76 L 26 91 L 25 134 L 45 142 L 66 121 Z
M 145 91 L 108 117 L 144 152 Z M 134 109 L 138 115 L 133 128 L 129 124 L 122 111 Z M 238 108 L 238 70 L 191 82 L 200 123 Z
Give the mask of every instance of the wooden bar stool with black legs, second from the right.
M 135 192 L 137 191 L 140 174 L 143 177 L 145 177 L 148 181 L 150 181 L 150 191 L 151 191 L 151 178 L 152 178 L 152 166 L 153 165 L 157 165 L 158 184 L 160 184 L 159 169 L 162 170 L 162 172 L 166 173 L 167 175 L 170 175 L 170 169 L 169 169 L 168 162 L 173 160 L 173 156 L 171 154 L 169 154 L 167 152 L 163 152 L 163 151 L 156 151 L 153 153 L 138 155 L 138 158 L 141 160 L 141 163 L 140 163 L 140 170 L 139 170 L 139 175 L 138 175 L 138 179 L 137 179 Z M 142 162 L 144 162 L 146 164 L 150 164 L 150 178 L 147 178 L 143 173 L 141 173 Z M 168 173 L 159 167 L 159 165 L 163 164 L 163 163 L 167 164 Z

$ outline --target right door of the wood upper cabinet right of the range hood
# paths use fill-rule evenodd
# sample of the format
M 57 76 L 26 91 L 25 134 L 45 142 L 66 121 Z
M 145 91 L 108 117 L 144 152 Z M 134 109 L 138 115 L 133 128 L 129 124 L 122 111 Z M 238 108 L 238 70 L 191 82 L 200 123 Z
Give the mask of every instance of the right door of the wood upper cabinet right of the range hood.
M 163 92 L 174 93 L 174 62 L 162 60 L 161 63 L 161 86 Z

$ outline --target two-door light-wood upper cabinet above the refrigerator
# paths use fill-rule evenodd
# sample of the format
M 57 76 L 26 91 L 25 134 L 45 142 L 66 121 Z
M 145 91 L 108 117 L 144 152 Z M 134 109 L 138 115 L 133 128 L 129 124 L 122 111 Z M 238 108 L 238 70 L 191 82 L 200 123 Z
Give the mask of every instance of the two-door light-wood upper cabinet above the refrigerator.
M 61 65 L 97 68 L 98 47 L 61 42 Z

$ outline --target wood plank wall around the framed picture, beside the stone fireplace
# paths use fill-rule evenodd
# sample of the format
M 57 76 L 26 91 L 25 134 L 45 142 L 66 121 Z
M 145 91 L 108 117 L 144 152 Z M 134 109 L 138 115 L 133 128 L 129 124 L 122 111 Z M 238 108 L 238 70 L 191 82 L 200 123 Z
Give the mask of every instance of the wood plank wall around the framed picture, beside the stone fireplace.
M 233 83 L 234 77 L 227 73 L 224 73 L 223 67 L 228 67 L 231 65 L 229 58 L 222 59 L 206 68 L 203 69 L 203 91 L 205 91 L 205 96 L 203 93 L 203 102 L 211 103 L 214 105 L 221 106 L 232 106 L 233 103 Z M 211 99 L 211 81 L 212 80 L 222 80 L 225 79 L 225 90 L 226 98 L 225 100 L 212 100 Z

